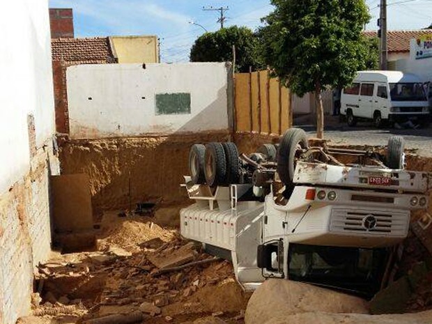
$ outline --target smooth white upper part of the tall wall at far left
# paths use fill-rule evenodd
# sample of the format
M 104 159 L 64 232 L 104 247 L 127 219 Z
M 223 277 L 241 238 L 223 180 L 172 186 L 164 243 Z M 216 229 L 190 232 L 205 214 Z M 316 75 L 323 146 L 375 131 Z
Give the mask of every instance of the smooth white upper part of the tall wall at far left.
M 0 192 L 29 169 L 27 115 L 40 146 L 54 133 L 48 0 L 3 1 L 0 10 Z

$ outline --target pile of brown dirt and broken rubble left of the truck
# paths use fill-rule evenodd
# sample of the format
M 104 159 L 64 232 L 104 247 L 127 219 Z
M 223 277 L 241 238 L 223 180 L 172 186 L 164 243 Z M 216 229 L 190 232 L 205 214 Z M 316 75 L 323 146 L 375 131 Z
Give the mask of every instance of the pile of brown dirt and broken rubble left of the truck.
M 151 219 L 139 222 L 152 231 Z M 123 233 L 127 247 L 128 238 Z M 97 252 L 39 265 L 34 316 L 52 321 L 47 323 L 243 323 L 249 294 L 237 284 L 229 261 L 204 253 L 178 233 L 137 242 L 134 253 L 122 242 L 102 241 Z M 60 321 L 65 316 L 69 322 Z

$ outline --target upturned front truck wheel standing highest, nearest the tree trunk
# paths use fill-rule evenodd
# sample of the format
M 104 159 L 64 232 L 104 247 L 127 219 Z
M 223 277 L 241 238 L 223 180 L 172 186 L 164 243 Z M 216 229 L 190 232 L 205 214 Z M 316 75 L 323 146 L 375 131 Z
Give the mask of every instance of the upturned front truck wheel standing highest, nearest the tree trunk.
M 304 130 L 291 128 L 287 130 L 279 144 L 277 157 L 277 173 L 286 187 L 293 185 L 295 164 L 299 157 L 299 149 L 308 148 L 307 136 Z

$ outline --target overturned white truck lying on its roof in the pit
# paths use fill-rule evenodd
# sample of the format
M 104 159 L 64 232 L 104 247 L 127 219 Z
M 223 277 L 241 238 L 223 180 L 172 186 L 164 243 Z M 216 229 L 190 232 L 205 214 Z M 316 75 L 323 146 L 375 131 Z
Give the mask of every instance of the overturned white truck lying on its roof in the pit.
M 280 277 L 374 295 L 389 247 L 406 238 L 432 185 L 429 173 L 403 169 L 403 138 L 390 138 L 384 156 L 309 147 L 291 129 L 258 151 L 192 146 L 185 186 L 196 203 L 180 212 L 182 236 L 231 260 L 245 288 Z

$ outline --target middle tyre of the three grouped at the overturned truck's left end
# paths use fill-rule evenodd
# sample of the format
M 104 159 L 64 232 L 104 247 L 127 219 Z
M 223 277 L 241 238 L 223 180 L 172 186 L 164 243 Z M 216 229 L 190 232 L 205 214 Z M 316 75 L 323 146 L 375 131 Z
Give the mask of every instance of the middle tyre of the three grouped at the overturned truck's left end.
M 222 144 L 209 143 L 206 145 L 204 165 L 207 185 L 210 187 L 223 185 L 226 179 L 226 159 Z

